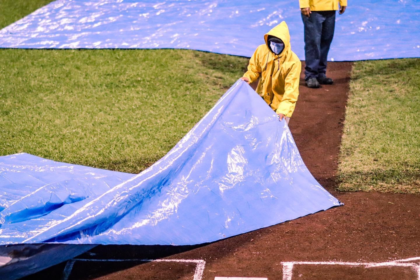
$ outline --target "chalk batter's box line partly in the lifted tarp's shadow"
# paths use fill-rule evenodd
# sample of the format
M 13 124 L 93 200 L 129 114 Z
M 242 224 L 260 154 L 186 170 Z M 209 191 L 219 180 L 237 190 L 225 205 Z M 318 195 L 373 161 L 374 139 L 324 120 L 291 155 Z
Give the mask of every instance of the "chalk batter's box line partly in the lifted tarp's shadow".
M 202 280 L 206 262 L 202 259 L 71 259 L 67 262 L 63 271 L 62 280 L 68 280 L 74 263 L 78 262 L 185 262 L 195 263 L 193 280 Z

